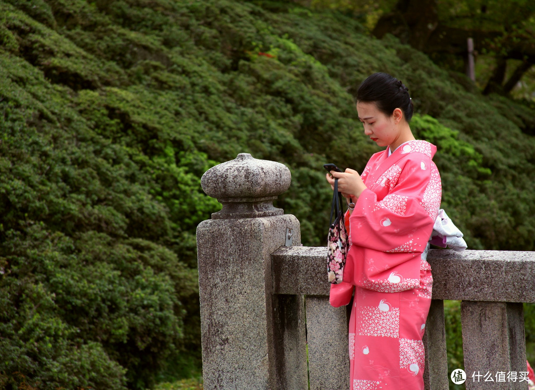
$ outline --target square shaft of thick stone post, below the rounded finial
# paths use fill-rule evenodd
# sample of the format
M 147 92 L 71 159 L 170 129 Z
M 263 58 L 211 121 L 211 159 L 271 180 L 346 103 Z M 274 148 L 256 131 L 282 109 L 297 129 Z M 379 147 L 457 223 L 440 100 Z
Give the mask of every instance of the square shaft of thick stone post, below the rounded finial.
M 271 253 L 284 245 L 287 228 L 299 244 L 299 221 L 292 215 L 198 225 L 205 388 L 277 388 L 277 365 L 282 363 L 274 350 Z M 302 377 L 306 383 L 306 371 Z

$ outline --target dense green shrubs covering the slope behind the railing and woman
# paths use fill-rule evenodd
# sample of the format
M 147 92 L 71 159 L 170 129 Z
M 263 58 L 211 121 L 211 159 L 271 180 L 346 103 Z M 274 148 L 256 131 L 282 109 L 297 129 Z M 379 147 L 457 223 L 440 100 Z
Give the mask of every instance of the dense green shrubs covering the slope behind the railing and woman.
M 442 207 L 469 247 L 532 250 L 533 108 L 480 96 L 355 18 L 279 2 L 0 0 L 0 384 L 187 376 L 195 228 L 220 208 L 202 174 L 239 152 L 286 164 L 276 205 L 323 246 L 322 165 L 362 170 L 378 151 L 351 96 L 376 71 L 409 86 L 411 126 L 438 146 Z

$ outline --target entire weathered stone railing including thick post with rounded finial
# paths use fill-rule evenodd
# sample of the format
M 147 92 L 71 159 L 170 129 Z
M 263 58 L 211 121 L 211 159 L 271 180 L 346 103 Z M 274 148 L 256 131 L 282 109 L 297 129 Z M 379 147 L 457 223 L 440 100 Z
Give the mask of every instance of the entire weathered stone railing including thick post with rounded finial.
M 326 247 L 300 246 L 299 221 L 272 204 L 290 181 L 286 166 L 248 154 L 203 175 L 223 204 L 197 227 L 206 389 L 350 389 L 348 309 L 329 304 Z M 466 388 L 526 390 L 470 375 L 526 371 L 522 302 L 535 302 L 535 253 L 431 250 L 428 261 L 426 389 L 448 389 L 443 300 L 461 300 Z

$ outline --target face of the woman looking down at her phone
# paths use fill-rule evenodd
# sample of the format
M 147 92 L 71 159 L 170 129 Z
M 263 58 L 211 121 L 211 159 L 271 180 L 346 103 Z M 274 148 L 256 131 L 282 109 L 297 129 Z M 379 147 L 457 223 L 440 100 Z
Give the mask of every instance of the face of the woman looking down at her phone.
M 364 134 L 380 147 L 392 145 L 400 135 L 394 116 L 379 111 L 373 102 L 357 102 L 358 119 L 364 126 Z

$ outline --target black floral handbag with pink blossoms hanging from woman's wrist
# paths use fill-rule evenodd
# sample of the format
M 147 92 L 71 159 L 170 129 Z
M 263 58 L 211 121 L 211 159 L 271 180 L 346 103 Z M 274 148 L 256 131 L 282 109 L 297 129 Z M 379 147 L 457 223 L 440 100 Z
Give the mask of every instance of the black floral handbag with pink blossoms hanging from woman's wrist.
M 333 202 L 327 236 L 327 277 L 332 284 L 339 284 L 343 278 L 349 242 L 342 212 L 342 194 L 338 192 L 338 179 L 334 179 Z M 334 221 L 333 221 L 334 217 Z

